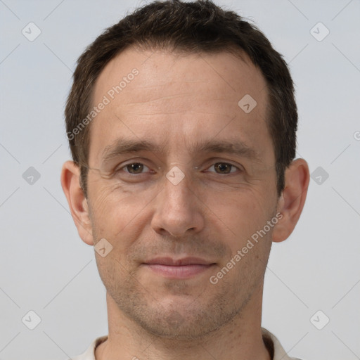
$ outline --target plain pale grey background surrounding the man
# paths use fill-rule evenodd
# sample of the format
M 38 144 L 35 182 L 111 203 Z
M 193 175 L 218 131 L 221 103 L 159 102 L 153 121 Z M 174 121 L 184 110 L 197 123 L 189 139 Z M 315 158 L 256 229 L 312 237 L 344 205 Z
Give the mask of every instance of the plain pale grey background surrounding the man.
M 216 3 L 255 21 L 290 63 L 298 156 L 329 174 L 322 184 L 311 179 L 295 231 L 273 245 L 262 325 L 290 356 L 360 359 L 360 2 Z M 94 250 L 79 238 L 60 187 L 70 158 L 63 108 L 85 46 L 143 4 L 0 1 L 2 360 L 67 359 L 108 333 Z M 21 32 L 30 22 L 41 30 L 34 41 Z M 330 30 L 322 41 L 310 32 L 319 22 Z M 32 185 L 22 176 L 31 166 L 41 174 Z M 22 322 L 30 310 L 41 318 L 34 330 Z M 310 321 L 318 310 L 330 319 L 322 330 Z

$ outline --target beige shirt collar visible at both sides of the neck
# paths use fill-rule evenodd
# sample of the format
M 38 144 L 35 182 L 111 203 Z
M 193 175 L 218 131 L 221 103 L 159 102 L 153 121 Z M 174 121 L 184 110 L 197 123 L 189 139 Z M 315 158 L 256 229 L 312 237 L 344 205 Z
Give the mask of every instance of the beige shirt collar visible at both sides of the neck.
M 264 343 L 272 356 L 272 360 L 300 360 L 295 357 L 289 357 L 281 346 L 278 339 L 273 334 L 271 334 L 269 330 L 266 330 L 265 328 L 262 328 L 262 338 L 264 339 Z M 84 354 L 75 356 L 72 358 L 72 360 L 96 360 L 96 347 L 100 345 L 101 342 L 104 342 L 107 339 L 108 335 L 101 336 L 101 338 L 95 339 L 93 342 L 91 342 L 91 345 L 88 347 L 86 352 L 84 352 Z

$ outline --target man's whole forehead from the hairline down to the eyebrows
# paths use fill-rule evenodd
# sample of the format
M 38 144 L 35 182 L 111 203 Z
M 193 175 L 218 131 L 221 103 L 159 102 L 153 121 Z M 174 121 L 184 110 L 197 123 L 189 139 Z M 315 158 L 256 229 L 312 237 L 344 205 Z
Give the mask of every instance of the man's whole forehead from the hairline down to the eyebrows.
M 166 138 L 174 146 L 237 131 L 249 146 L 269 138 L 266 82 L 245 53 L 238 58 L 129 47 L 105 66 L 93 95 L 94 105 L 104 98 L 108 104 L 91 123 L 90 153 L 124 137 L 154 143 Z

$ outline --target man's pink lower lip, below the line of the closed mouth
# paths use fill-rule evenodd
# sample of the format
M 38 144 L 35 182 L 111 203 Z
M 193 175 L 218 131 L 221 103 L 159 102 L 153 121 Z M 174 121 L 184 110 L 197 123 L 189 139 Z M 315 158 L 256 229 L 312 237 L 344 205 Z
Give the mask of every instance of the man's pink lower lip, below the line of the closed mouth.
M 149 269 L 157 274 L 167 278 L 190 278 L 210 269 L 214 264 L 189 264 L 189 265 L 162 265 L 162 264 L 145 264 Z

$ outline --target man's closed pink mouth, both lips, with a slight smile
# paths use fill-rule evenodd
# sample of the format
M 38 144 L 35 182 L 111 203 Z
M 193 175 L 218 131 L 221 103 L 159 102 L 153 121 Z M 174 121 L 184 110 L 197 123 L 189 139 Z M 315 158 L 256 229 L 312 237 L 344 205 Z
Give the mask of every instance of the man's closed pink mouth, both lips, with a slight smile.
M 153 271 L 155 274 L 165 276 L 165 278 L 192 278 L 211 269 L 215 265 L 198 257 L 184 257 L 173 259 L 172 257 L 157 257 L 143 263 L 143 266 Z

